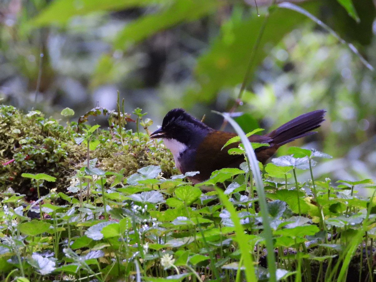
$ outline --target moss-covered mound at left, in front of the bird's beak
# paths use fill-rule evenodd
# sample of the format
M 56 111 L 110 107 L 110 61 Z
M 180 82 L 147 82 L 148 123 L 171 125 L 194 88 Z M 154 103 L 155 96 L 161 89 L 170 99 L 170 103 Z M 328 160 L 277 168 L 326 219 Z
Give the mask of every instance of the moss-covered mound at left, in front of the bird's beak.
M 23 114 L 12 106 L 0 105 L 0 191 L 11 187 L 35 199 L 35 187 L 22 173 L 56 177 L 56 182 L 43 184 L 41 194 L 51 188 L 66 191 L 69 177 L 87 162 L 86 147 L 74 141 L 82 137 L 77 128 L 77 123 L 62 126 L 39 111 Z M 171 154 L 158 141 L 150 140 L 146 133 L 116 128 L 95 132 L 99 144 L 89 152 L 89 158 L 97 158 L 97 167 L 112 172 L 124 168 L 125 177 L 146 165 L 160 165 L 166 175 L 176 173 Z

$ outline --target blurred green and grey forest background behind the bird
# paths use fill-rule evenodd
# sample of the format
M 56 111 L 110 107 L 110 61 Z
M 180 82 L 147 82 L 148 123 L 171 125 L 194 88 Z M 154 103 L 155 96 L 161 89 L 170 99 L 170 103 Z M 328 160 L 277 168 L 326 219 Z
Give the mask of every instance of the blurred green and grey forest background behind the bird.
M 76 120 L 114 109 L 119 91 L 151 130 L 177 107 L 217 129 L 211 110 L 240 112 L 245 131 L 267 132 L 323 108 L 319 133 L 294 143 L 334 156 L 315 174 L 376 179 L 376 3 L 274 2 L 1 0 L 0 102 Z

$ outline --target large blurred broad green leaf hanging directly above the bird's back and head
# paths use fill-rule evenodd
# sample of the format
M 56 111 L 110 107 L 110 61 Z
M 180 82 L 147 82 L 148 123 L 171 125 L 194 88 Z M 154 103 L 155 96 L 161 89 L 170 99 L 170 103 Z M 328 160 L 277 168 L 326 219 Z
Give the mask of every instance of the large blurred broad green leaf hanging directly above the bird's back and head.
M 312 8 L 316 10 L 318 4 L 311 2 L 303 3 L 302 6 L 312 12 Z M 198 59 L 194 71 L 198 85 L 187 89 L 184 104 L 189 106 L 192 103 L 212 101 L 220 89 L 233 87 L 243 81 L 249 65 L 250 50 L 254 48 L 266 20 L 261 42 L 253 56 L 249 77 L 253 77 L 256 68 L 270 54 L 268 50 L 296 25 L 302 24 L 304 19 L 303 15 L 287 9 L 274 9 L 270 11 L 267 19 L 264 15 L 241 21 L 230 18 L 222 24 L 221 33 L 210 49 Z

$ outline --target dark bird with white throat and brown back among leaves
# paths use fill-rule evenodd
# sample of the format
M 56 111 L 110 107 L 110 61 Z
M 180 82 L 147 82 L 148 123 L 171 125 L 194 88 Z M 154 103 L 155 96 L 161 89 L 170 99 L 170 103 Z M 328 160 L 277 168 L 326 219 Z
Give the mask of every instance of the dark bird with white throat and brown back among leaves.
M 295 139 L 314 133 L 324 121 L 326 111 L 316 110 L 288 121 L 277 129 L 265 135 L 251 135 L 250 142 L 264 143 L 255 150 L 256 158 L 262 164 L 276 153 L 277 149 Z M 232 143 L 222 150 L 226 142 L 237 136 L 236 133 L 215 130 L 184 109 L 172 109 L 163 121 L 162 126 L 150 135 L 150 138 L 162 138 L 165 147 L 174 157 L 176 168 L 183 174 L 189 171 L 199 171 L 194 176 L 187 177 L 192 183 L 203 182 L 215 170 L 221 168 L 239 168 L 244 162 L 242 155 L 229 155 L 228 149 L 239 146 Z

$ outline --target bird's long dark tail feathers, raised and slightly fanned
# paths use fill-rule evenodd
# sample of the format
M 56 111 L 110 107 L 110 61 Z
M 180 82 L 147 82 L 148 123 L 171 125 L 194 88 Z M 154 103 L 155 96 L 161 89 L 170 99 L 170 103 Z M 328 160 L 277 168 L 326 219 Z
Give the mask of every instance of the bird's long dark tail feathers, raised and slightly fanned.
M 273 139 L 272 143 L 279 147 L 295 139 L 314 134 L 316 132 L 312 130 L 320 127 L 324 121 L 325 112 L 325 110 L 317 110 L 299 115 L 270 132 L 268 136 Z

